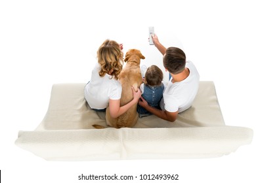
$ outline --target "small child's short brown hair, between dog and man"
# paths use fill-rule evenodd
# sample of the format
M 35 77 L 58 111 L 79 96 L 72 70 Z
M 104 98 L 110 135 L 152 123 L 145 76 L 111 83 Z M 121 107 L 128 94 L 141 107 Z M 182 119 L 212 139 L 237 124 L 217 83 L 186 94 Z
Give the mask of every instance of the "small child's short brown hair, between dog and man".
M 163 72 L 156 65 L 148 67 L 145 73 L 144 84 L 150 86 L 160 86 L 163 80 Z

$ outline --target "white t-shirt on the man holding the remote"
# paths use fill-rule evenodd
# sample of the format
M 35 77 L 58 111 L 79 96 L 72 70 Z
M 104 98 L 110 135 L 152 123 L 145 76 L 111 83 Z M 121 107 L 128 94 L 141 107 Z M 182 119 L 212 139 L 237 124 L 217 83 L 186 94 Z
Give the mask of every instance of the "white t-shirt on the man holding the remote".
M 182 112 L 191 107 L 196 93 L 198 93 L 200 76 L 192 61 L 186 61 L 186 67 L 190 71 L 186 79 L 175 83 L 169 80 L 160 102 L 162 110 Z

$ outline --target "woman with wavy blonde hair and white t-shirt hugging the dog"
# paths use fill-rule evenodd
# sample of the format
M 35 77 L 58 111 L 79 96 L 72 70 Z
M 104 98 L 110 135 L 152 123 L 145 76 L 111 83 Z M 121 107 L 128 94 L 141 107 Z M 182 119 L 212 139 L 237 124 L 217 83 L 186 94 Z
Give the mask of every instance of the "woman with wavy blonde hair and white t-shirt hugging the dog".
M 133 88 L 133 100 L 120 107 L 121 84 L 118 75 L 121 72 L 123 61 L 122 44 L 106 40 L 97 51 L 98 63 L 92 71 L 91 80 L 85 86 L 85 100 L 96 111 L 106 111 L 110 108 L 110 116 L 117 118 L 125 113 L 132 105 L 138 103 L 141 92 Z

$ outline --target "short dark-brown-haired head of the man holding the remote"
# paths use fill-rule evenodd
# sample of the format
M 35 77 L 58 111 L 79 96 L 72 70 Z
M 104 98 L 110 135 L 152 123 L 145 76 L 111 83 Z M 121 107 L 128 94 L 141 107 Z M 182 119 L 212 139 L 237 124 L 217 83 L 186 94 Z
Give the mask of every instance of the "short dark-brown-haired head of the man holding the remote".
M 186 55 L 180 48 L 167 48 L 165 55 L 163 56 L 163 66 L 165 69 L 176 75 L 185 69 L 185 65 Z

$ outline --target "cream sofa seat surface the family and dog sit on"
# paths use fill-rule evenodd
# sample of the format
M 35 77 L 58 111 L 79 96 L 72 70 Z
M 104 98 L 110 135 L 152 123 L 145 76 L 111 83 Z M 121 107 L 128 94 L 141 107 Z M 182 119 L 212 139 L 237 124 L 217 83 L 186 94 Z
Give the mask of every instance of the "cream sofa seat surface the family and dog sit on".
M 49 108 L 37 130 L 93 129 L 98 124 L 107 127 L 105 112 L 91 110 L 83 97 L 85 84 L 54 84 Z M 176 122 L 157 116 L 139 118 L 136 128 L 142 127 L 198 127 L 224 125 L 213 82 L 200 82 L 192 107 L 181 112 Z

